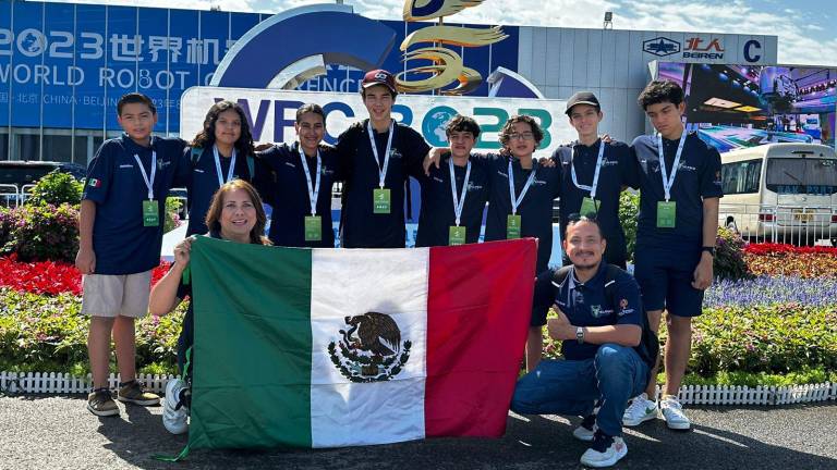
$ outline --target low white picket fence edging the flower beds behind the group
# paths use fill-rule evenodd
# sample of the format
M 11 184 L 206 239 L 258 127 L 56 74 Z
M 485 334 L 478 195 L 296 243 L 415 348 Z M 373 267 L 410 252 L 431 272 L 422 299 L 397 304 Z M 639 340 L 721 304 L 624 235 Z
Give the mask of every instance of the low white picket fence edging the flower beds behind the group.
M 174 375 L 140 374 L 137 380 L 148 392 L 161 394 L 166 383 Z M 90 375 L 86 378 L 64 373 L 0 372 L 0 394 L 82 394 L 90 389 Z M 119 386 L 119 375 L 110 374 L 108 386 Z M 657 397 L 660 391 L 657 388 Z M 683 405 L 791 405 L 837 399 L 837 383 L 791 386 L 727 386 L 684 385 L 678 395 Z

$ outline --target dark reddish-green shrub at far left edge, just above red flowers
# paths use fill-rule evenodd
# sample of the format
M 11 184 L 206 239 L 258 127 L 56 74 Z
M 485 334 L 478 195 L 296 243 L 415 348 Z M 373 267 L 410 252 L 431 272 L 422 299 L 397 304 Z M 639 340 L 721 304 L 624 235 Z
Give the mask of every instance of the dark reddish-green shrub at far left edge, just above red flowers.
M 24 206 L 15 210 L 16 226 L 3 247 L 21 261 L 75 260 L 78 211 L 70 205 Z

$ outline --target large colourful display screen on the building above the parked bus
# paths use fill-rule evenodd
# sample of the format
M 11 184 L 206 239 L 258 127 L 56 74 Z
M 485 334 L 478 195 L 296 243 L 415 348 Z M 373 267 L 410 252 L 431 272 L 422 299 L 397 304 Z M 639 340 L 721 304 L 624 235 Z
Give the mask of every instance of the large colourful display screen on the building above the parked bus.
M 719 151 L 773 143 L 835 146 L 837 69 L 662 62 L 657 78 L 683 87 L 688 123 Z

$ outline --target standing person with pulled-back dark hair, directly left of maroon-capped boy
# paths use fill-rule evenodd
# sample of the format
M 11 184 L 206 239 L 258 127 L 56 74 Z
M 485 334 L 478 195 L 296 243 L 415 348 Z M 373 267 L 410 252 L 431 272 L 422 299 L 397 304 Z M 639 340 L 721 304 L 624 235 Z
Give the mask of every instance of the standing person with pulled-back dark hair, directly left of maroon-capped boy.
M 269 238 L 288 247 L 335 247 L 331 187 L 337 151 L 323 145 L 326 114 L 319 104 L 296 110 L 298 141 L 259 152 L 256 187 L 272 206 Z

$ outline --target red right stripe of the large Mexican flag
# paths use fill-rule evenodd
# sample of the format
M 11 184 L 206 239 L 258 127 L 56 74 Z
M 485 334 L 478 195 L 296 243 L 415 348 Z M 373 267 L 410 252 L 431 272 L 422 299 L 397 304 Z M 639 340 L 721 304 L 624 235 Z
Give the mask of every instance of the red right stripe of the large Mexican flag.
M 425 434 L 501 436 L 532 314 L 532 238 L 430 248 Z

